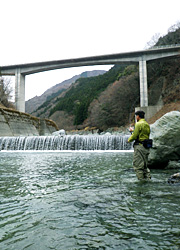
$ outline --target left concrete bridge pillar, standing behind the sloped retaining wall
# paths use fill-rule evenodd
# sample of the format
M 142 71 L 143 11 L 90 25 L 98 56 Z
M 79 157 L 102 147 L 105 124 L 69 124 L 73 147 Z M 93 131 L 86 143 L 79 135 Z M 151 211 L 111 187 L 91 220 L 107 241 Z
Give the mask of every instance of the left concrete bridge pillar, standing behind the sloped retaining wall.
M 15 106 L 18 111 L 25 112 L 25 75 L 20 69 L 15 74 Z

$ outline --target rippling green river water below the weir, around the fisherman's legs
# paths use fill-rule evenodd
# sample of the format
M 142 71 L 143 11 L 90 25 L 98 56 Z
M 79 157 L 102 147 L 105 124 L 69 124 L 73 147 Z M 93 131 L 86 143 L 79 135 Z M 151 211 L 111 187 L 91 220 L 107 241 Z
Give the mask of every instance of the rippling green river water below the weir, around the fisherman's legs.
M 0 152 L 0 249 L 180 249 L 173 170 L 139 182 L 132 152 Z

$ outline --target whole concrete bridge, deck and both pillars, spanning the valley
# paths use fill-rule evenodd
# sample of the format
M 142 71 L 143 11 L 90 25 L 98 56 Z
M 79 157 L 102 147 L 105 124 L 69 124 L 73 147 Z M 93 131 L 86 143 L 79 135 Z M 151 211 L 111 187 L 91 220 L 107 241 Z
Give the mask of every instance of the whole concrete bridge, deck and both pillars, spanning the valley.
M 15 104 L 16 109 L 25 112 L 25 76 L 38 72 L 81 67 L 90 65 L 134 64 L 139 63 L 140 77 L 140 106 L 148 107 L 147 61 L 160 60 L 180 56 L 180 44 L 155 47 L 153 49 L 74 58 L 67 60 L 37 62 L 0 67 L 0 75 L 15 75 Z

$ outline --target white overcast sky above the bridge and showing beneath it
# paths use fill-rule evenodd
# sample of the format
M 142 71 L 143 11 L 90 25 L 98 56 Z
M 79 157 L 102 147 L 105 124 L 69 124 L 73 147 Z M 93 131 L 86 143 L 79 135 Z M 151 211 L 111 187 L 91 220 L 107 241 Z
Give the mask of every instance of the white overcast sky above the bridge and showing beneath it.
M 0 0 L 0 8 L 0 66 L 142 50 L 180 21 L 180 0 Z M 86 70 L 109 68 L 26 76 L 26 100 Z

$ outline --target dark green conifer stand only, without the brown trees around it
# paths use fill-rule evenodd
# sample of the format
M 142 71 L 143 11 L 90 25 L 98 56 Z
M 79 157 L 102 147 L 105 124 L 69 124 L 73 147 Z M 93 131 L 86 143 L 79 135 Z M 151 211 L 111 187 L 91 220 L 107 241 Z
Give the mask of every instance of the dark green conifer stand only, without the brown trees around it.
M 102 76 L 80 78 L 76 85 L 63 98 L 57 99 L 57 104 L 50 110 L 50 116 L 58 110 L 74 115 L 74 125 L 80 125 L 88 117 L 88 107 L 107 86 L 116 81 L 119 72 L 124 67 L 114 66 Z

